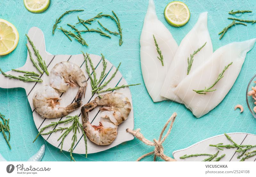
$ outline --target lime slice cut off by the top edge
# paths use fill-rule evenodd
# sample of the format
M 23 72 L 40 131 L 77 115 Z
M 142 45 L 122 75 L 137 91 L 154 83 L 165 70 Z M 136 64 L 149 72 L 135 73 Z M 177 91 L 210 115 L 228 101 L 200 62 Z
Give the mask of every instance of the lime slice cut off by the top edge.
M 26 9 L 32 13 L 42 13 L 50 5 L 50 0 L 23 0 Z

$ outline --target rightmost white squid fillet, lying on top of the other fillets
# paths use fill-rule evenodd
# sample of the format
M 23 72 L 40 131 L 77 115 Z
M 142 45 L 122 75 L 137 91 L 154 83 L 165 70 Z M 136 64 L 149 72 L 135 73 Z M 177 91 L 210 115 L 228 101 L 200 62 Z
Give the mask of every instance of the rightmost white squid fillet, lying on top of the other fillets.
M 182 103 L 199 118 L 215 108 L 228 94 L 236 81 L 241 67 L 244 63 L 246 53 L 254 46 L 256 38 L 233 42 L 220 47 L 203 65 L 191 72 L 173 92 L 180 97 Z M 197 94 L 194 90 L 203 90 L 210 87 L 229 63 L 232 65 L 224 72 L 224 77 L 211 89 L 213 92 L 206 92 L 205 95 Z

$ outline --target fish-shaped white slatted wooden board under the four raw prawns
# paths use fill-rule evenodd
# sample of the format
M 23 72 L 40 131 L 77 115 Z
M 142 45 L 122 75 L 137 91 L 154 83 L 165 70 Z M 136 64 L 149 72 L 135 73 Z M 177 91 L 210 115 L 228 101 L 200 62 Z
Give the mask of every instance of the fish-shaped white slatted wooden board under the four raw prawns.
M 39 50 L 39 53 L 41 54 L 42 58 L 45 60 L 46 65 L 48 67 L 48 71 L 50 73 L 50 71 L 52 70 L 52 68 L 59 62 L 61 61 L 70 61 L 73 62 L 75 64 L 77 64 L 78 66 L 80 66 L 82 68 L 82 70 L 84 71 L 84 74 L 87 78 L 87 82 L 88 82 L 88 86 L 86 89 L 86 93 L 85 93 L 85 98 L 82 99 L 83 104 L 86 104 L 90 101 L 92 101 L 95 97 L 98 96 L 98 94 L 94 94 L 92 96 L 92 87 L 91 87 L 91 81 L 89 79 L 88 74 L 85 72 L 85 63 L 84 63 L 84 56 L 83 54 L 78 54 L 78 55 L 52 55 L 48 52 L 46 52 L 45 49 L 45 41 L 44 41 L 44 34 L 43 32 L 37 28 L 37 27 L 32 27 L 30 28 L 29 32 L 28 32 L 28 36 L 29 38 L 33 41 L 34 45 L 36 46 L 36 48 Z M 28 46 L 31 50 L 33 59 L 36 61 L 36 56 L 34 54 L 33 48 L 32 46 L 29 44 L 29 42 L 27 41 Z M 86 48 L 85 48 L 86 49 Z M 85 52 L 85 51 L 84 51 Z M 99 51 L 100 53 L 100 51 Z M 97 73 L 97 79 L 99 79 L 101 71 L 103 70 L 103 65 L 102 65 L 102 61 L 101 61 L 101 56 L 98 55 L 93 55 L 90 54 L 90 57 L 92 59 L 93 65 L 95 67 L 96 73 Z M 107 64 L 107 68 L 106 68 L 106 73 L 107 75 L 103 78 L 103 81 L 108 81 L 108 79 L 111 77 L 111 75 L 115 72 L 116 67 L 113 66 L 108 60 L 106 60 Z M 89 61 L 88 61 L 89 63 Z M 90 66 L 89 66 L 90 67 Z M 34 71 L 36 73 L 39 73 L 36 68 L 33 66 L 30 58 L 29 58 L 29 54 L 27 57 L 27 61 L 26 64 L 23 67 L 18 68 L 19 70 L 26 70 L 26 71 Z M 90 71 L 92 72 L 92 68 L 90 67 Z M 12 74 L 12 75 L 22 75 L 22 73 L 17 73 L 14 71 L 9 71 L 6 72 L 6 74 Z M 92 73 L 91 73 L 92 74 Z M 17 88 L 17 87 L 21 87 L 21 88 L 25 88 L 26 90 L 26 94 L 28 96 L 28 102 L 30 103 L 30 107 L 31 110 L 33 111 L 33 117 L 34 117 L 34 122 L 36 124 L 36 128 L 38 130 L 40 130 L 40 128 L 50 124 L 51 122 L 55 122 L 55 121 L 59 121 L 60 119 L 65 119 L 66 117 L 61 117 L 61 118 L 53 118 L 53 119 L 45 119 L 42 118 L 39 114 L 37 114 L 37 112 L 34 109 L 33 106 L 33 101 L 32 101 L 32 97 L 35 93 L 36 90 L 42 88 L 44 85 L 50 85 L 50 76 L 47 76 L 45 73 L 41 74 L 40 77 L 43 79 L 43 83 L 36 83 L 36 82 L 23 82 L 23 81 L 18 81 L 15 79 L 9 79 L 7 77 L 4 77 L 3 74 L 0 74 L 0 87 L 1 88 Z M 108 85 L 105 87 L 107 88 L 113 88 L 116 86 L 121 86 L 123 84 L 127 84 L 125 79 L 123 78 L 122 74 L 118 71 L 116 73 L 116 76 L 108 83 Z M 105 89 L 104 88 L 104 89 Z M 73 103 L 75 97 L 76 97 L 76 93 L 78 91 L 78 87 L 75 88 L 69 88 L 68 91 L 64 94 L 60 94 L 61 96 L 61 100 L 60 100 L 60 105 L 59 106 L 63 106 L 66 107 L 67 105 Z M 120 90 L 118 90 L 118 92 L 123 93 L 125 96 L 127 96 L 132 104 L 132 96 L 130 93 L 130 89 L 128 87 L 126 88 L 122 88 Z M 108 93 L 108 92 L 105 92 Z M 102 93 L 102 94 L 105 94 Z M 93 111 L 89 112 L 89 121 L 92 122 L 92 125 L 99 125 L 99 121 L 100 121 L 100 107 L 97 107 L 96 109 L 94 109 Z M 79 115 L 80 117 L 80 122 L 82 122 L 81 119 L 81 111 L 80 108 L 77 109 L 76 111 L 70 113 L 68 116 L 75 116 L 75 115 Z M 92 143 L 89 139 L 87 139 L 87 147 L 88 147 L 88 154 L 90 153 L 95 153 L 95 152 L 101 152 L 104 150 L 107 150 L 111 147 L 114 147 L 116 145 L 119 145 L 125 141 L 129 141 L 133 139 L 133 136 L 130 133 L 126 132 L 126 129 L 133 129 L 134 128 L 134 120 L 133 120 L 133 109 L 131 110 L 131 113 L 129 115 L 129 117 L 120 125 L 118 125 L 118 134 L 117 137 L 115 139 L 115 141 L 113 141 L 110 145 L 107 146 L 99 146 L 99 145 L 95 145 L 94 143 Z M 72 124 L 60 124 L 60 127 L 65 127 L 65 126 L 70 126 Z M 58 128 L 58 126 L 56 127 Z M 44 132 L 48 132 L 50 130 L 53 130 L 53 128 L 47 128 L 45 129 Z M 60 142 L 61 139 L 59 141 L 57 141 L 57 139 L 60 137 L 61 132 L 58 131 L 56 133 L 52 133 L 50 135 L 44 135 L 43 138 L 50 144 L 54 145 L 55 147 L 60 148 Z M 73 133 L 69 133 L 68 136 L 65 138 L 64 140 L 64 144 L 63 144 L 63 150 L 64 151 L 68 151 L 71 143 L 72 143 L 72 135 Z M 35 135 L 36 137 L 36 135 Z M 85 143 L 84 143 L 84 138 L 83 138 L 83 134 L 82 131 L 80 131 L 80 133 L 77 132 L 77 142 L 74 146 L 74 153 L 78 153 L 78 154 L 85 154 Z M 31 142 L 33 140 L 31 139 Z

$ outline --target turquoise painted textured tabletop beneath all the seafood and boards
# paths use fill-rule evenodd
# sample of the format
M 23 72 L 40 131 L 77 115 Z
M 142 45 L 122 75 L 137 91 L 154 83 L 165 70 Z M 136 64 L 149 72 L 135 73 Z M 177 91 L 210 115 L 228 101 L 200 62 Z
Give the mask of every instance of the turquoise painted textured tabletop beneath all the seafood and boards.
M 190 31 L 197 21 L 201 12 L 208 11 L 208 29 L 212 38 L 213 50 L 233 41 L 243 41 L 256 37 L 255 24 L 247 26 L 237 25 L 232 27 L 219 40 L 218 32 L 231 23 L 228 17 L 230 10 L 252 10 L 252 14 L 244 15 L 243 18 L 256 19 L 256 1 L 245 0 L 183 0 L 191 12 L 191 17 L 185 26 L 175 28 L 164 20 L 163 11 L 170 0 L 155 0 L 158 18 L 170 30 L 174 39 L 180 44 L 183 37 Z M 145 88 L 140 70 L 140 33 L 146 14 L 148 0 L 52 0 L 50 7 L 42 14 L 28 12 L 23 1 L 1 1 L 0 18 L 10 21 L 19 31 L 20 41 L 18 47 L 10 54 L 0 57 L 0 67 L 4 71 L 18 68 L 25 64 L 27 58 L 25 33 L 32 26 L 39 27 L 45 36 L 46 50 L 52 54 L 79 54 L 81 50 L 88 53 L 105 57 L 115 66 L 122 62 L 120 71 L 126 81 L 142 83 L 139 86 L 131 87 L 135 128 L 141 128 L 144 136 L 150 140 L 158 138 L 165 122 L 177 112 L 178 117 L 167 140 L 164 142 L 164 152 L 171 155 L 173 151 L 186 148 L 200 140 L 222 134 L 224 132 L 247 132 L 256 134 L 256 119 L 249 112 L 246 101 L 246 87 L 252 76 L 255 74 L 256 47 L 246 56 L 242 70 L 225 99 L 209 114 L 196 119 L 184 105 L 172 101 L 153 103 Z M 84 9 L 84 12 L 73 13 L 65 16 L 59 26 L 68 29 L 67 23 L 75 24 L 77 15 L 88 19 L 99 12 L 111 13 L 114 10 L 120 18 L 123 28 L 124 44 L 118 45 L 119 36 L 112 36 L 108 39 L 96 33 L 88 33 L 84 38 L 90 45 L 81 46 L 80 43 L 72 42 L 59 30 L 52 35 L 52 25 L 55 19 L 63 12 L 71 9 Z M 116 29 L 116 25 L 101 19 L 109 29 Z M 108 23 L 109 22 L 109 23 Z M 98 26 L 97 22 L 92 27 Z M 84 27 L 77 26 L 79 29 Z M 117 29 L 116 29 L 117 30 Z M 244 112 L 234 111 L 236 104 L 244 106 Z M 0 153 L 10 161 L 26 161 L 42 144 L 46 144 L 44 161 L 68 161 L 69 152 L 60 152 L 39 137 L 32 143 L 38 133 L 33 121 L 32 111 L 29 107 L 25 90 L 23 88 L 2 89 L 0 88 L 0 111 L 10 118 L 11 145 L 12 150 L 7 146 L 4 138 L 0 135 Z M 153 147 L 141 143 L 139 140 L 118 145 L 108 151 L 96 154 L 89 154 L 86 159 L 84 155 L 75 154 L 78 161 L 134 161 L 144 153 L 150 152 Z M 153 156 L 145 158 L 152 160 Z

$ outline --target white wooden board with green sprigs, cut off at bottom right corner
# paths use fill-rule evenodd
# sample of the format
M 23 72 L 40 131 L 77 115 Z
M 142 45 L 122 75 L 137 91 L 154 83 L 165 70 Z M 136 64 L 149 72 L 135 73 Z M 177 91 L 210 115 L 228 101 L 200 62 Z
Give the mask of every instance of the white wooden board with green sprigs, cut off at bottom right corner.
M 256 135 L 250 133 L 227 133 L 238 145 L 256 145 Z M 226 154 L 220 161 L 240 161 L 237 159 L 241 153 L 235 152 L 237 148 L 223 148 L 223 151 L 219 150 L 217 147 L 211 147 L 210 144 L 216 145 L 218 143 L 223 143 L 223 145 L 233 145 L 224 134 L 217 135 L 211 138 L 204 139 L 194 145 L 191 145 L 185 149 L 177 150 L 172 153 L 174 159 L 177 161 L 202 161 L 209 156 L 197 156 L 197 157 L 189 157 L 186 159 L 180 159 L 181 156 L 187 154 L 215 154 L 219 151 L 218 156 L 220 157 L 222 154 Z M 250 152 L 255 150 L 256 148 L 252 148 L 247 150 L 246 152 Z M 256 161 L 256 156 L 246 159 L 245 161 Z

